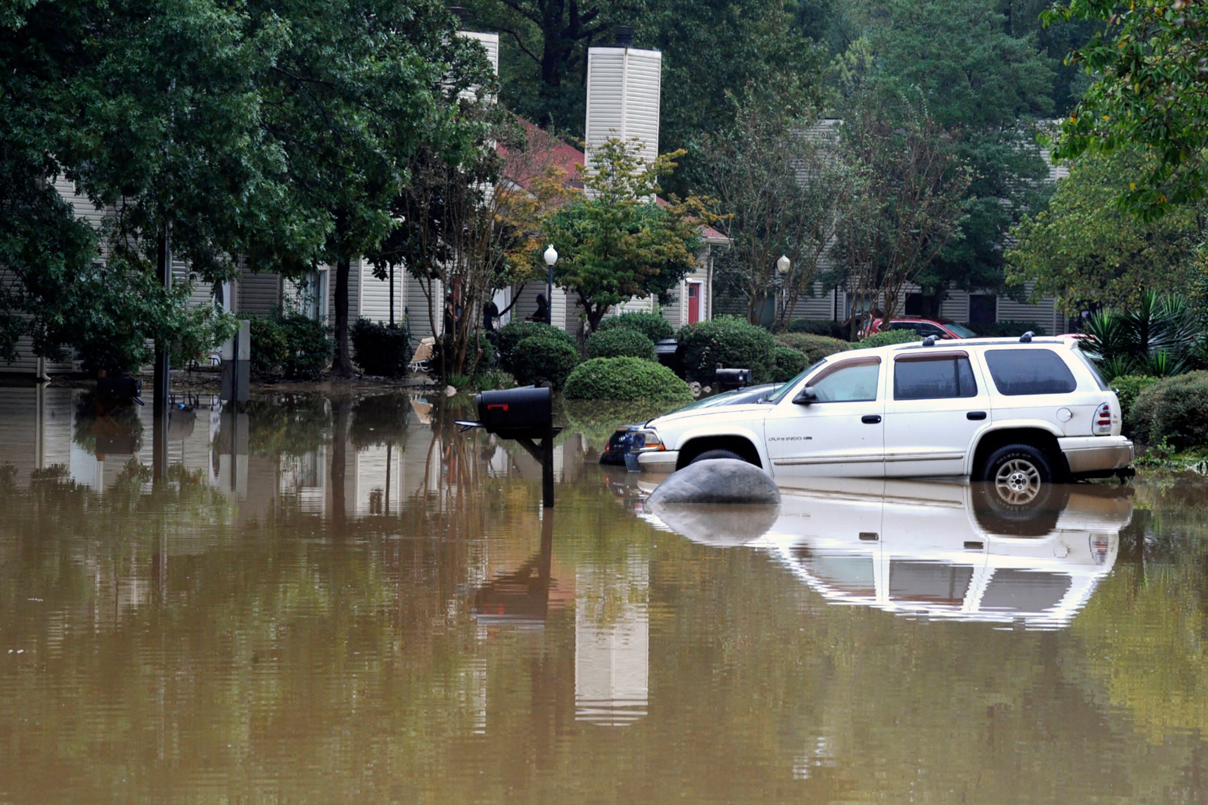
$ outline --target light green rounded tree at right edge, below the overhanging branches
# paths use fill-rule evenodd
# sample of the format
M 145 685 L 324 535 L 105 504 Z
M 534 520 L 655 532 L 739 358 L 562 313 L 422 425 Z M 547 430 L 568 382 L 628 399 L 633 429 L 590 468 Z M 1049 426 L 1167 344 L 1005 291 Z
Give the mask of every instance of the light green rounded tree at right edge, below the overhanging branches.
M 1156 157 L 1137 150 L 1087 153 L 1057 182 L 1046 209 L 1024 216 L 1007 252 L 1007 281 L 1034 282 L 1034 297 L 1056 297 L 1064 310 L 1094 302 L 1132 305 L 1146 288 L 1184 287 L 1202 237 L 1202 205 L 1144 220 L 1114 202 L 1129 176 L 1148 174 Z

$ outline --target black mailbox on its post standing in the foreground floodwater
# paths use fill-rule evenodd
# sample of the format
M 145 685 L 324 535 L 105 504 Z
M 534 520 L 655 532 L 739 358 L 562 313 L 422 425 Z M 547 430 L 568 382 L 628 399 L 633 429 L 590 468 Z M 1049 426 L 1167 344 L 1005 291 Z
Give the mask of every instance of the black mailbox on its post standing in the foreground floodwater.
M 547 386 L 521 386 L 478 395 L 478 421 L 459 421 L 463 430 L 482 427 L 513 439 L 541 462 L 541 502 L 553 508 L 553 395 Z M 540 442 L 540 445 L 538 444 Z

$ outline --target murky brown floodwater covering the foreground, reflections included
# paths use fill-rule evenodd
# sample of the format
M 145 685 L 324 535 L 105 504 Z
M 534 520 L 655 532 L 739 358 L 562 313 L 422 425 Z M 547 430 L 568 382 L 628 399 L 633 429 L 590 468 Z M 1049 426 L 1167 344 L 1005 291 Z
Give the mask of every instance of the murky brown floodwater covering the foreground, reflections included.
M 557 508 L 420 399 L 0 389 L 0 801 L 1201 801 L 1206 488 Z M 670 529 L 670 530 L 668 530 Z

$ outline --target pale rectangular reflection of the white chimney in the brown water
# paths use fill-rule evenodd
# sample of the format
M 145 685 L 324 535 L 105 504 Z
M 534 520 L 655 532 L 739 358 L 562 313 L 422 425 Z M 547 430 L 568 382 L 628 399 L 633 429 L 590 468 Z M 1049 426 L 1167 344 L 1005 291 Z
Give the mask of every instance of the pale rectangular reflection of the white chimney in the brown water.
M 650 689 L 649 562 L 575 576 L 575 718 L 623 727 L 646 714 Z

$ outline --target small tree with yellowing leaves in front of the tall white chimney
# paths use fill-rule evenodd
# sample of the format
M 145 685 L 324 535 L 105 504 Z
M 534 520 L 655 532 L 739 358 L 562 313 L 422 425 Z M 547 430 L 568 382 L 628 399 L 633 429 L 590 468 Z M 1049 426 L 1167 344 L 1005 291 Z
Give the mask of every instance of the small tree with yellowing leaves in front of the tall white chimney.
M 699 229 L 716 220 L 709 200 L 656 200 L 658 176 L 673 173 L 679 156 L 646 164 L 640 141 L 610 138 L 588 154 L 587 192 L 542 223 L 559 253 L 553 281 L 579 298 L 592 331 L 612 305 L 666 293 L 697 264 Z

